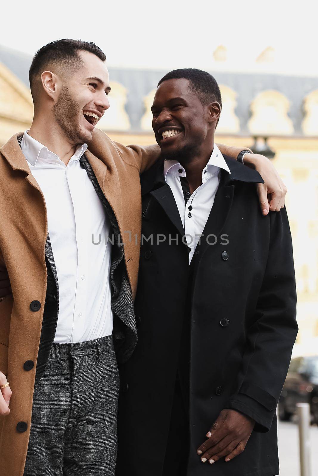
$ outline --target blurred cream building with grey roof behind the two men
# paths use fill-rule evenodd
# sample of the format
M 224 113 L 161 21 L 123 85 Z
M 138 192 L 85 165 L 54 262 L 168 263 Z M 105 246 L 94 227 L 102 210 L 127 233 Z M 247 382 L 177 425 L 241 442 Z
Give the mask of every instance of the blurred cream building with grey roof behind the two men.
M 0 145 L 28 129 L 31 56 L 0 47 Z M 209 72 L 222 93 L 216 142 L 259 147 L 288 188 L 294 244 L 299 333 L 294 356 L 318 354 L 318 71 L 284 69 L 272 47 L 240 64 L 223 45 L 211 51 Z M 109 68 L 111 108 L 99 127 L 123 144 L 154 143 L 151 105 L 167 70 Z M 271 154 L 272 152 L 272 154 Z

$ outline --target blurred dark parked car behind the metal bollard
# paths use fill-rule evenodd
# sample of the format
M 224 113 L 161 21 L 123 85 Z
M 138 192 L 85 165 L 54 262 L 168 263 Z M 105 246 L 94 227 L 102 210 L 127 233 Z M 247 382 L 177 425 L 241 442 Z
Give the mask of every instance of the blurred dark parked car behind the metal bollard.
M 318 356 L 291 360 L 278 404 L 280 420 L 289 420 L 297 403 L 309 403 L 312 423 L 318 425 Z

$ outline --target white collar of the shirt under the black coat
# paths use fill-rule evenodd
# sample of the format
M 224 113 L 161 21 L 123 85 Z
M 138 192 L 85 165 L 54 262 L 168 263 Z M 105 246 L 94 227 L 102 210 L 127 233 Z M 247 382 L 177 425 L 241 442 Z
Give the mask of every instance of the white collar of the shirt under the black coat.
M 220 149 L 217 147 L 216 144 L 214 144 L 211 157 L 205 168 L 202 170 L 202 182 L 205 181 L 207 178 L 211 177 L 212 175 L 215 175 L 219 171 L 219 169 L 224 169 L 229 174 L 231 173 L 223 155 L 221 154 Z M 167 173 L 176 175 L 177 177 L 186 177 L 185 169 L 177 160 L 164 161 L 164 180 L 167 176 Z

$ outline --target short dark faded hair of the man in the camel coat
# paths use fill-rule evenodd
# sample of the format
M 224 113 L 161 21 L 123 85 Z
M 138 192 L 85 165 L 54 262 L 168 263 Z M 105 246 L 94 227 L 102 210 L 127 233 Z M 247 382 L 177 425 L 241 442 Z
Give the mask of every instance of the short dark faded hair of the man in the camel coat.
M 81 50 L 96 55 L 102 61 L 106 60 L 106 55 L 92 41 L 56 40 L 42 46 L 35 53 L 29 70 L 31 92 L 34 79 L 41 75 L 48 66 L 60 64 L 71 71 L 80 68 L 82 61 L 79 51 Z

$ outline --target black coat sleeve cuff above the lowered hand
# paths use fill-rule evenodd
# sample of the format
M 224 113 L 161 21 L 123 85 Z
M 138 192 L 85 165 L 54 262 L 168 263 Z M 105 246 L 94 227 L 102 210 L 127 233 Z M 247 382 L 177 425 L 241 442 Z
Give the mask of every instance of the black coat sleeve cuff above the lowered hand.
M 266 390 L 254 384 L 243 384 L 239 392 L 230 398 L 226 408 L 237 410 L 253 418 L 254 431 L 267 433 L 276 411 L 276 399 Z

